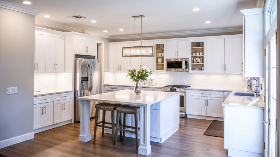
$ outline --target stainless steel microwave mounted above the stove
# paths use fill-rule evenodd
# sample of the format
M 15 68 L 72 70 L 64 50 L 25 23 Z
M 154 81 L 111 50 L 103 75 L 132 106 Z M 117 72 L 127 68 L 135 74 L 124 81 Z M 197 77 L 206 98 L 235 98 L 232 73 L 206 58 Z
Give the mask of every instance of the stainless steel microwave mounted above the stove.
M 189 58 L 166 59 L 166 71 L 189 71 Z

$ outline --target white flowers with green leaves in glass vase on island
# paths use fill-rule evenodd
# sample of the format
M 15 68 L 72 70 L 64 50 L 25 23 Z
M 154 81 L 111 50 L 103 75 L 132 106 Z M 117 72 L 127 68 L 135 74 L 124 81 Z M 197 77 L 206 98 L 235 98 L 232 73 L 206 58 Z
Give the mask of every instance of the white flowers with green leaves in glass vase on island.
M 139 95 L 141 93 L 141 81 L 147 80 L 148 76 L 152 74 L 150 68 L 146 68 L 143 66 L 139 71 L 136 72 L 135 68 L 128 67 L 127 68 L 127 76 L 130 77 L 130 79 L 135 82 L 134 83 L 134 92 L 136 95 Z

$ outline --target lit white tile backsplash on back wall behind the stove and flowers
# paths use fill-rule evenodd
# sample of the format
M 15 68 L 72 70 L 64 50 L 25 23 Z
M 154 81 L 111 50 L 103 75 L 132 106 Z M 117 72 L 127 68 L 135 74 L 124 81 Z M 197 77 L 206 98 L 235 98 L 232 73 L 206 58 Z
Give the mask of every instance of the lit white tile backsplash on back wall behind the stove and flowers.
M 104 84 L 120 83 L 133 84 L 127 72 L 104 72 Z M 155 79 L 156 85 L 190 85 L 192 87 L 243 89 L 246 81 L 242 74 L 208 74 L 166 71 L 154 72 L 148 77 Z

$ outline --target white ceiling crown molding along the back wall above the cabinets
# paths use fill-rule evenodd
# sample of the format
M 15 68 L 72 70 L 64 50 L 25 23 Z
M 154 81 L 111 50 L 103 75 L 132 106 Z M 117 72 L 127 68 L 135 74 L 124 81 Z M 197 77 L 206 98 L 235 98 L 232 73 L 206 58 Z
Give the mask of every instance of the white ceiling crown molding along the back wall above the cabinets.
M 243 31 L 242 27 L 238 28 L 222 28 L 222 29 L 209 29 L 209 30 L 196 30 L 196 31 L 178 31 L 178 32 L 159 32 L 159 33 L 142 33 L 144 37 L 158 37 L 158 36 L 178 36 L 178 35 L 191 35 L 191 34 L 206 34 L 206 33 L 225 33 L 225 32 L 240 32 Z M 132 39 L 134 34 L 112 36 L 113 39 Z M 136 34 L 136 38 L 140 38 L 140 34 Z

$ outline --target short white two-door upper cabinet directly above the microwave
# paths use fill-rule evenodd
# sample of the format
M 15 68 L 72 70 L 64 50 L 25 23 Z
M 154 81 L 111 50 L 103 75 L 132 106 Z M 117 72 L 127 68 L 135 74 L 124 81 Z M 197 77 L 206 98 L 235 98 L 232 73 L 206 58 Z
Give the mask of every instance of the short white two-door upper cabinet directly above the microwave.
M 166 59 L 189 58 L 189 41 L 166 42 Z

